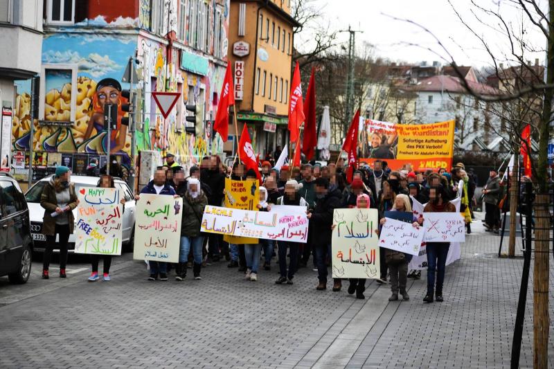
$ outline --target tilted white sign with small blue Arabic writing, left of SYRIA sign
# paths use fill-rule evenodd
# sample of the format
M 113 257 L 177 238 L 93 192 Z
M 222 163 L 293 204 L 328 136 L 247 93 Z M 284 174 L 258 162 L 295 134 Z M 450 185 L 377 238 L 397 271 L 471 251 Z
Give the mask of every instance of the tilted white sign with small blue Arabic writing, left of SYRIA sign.
M 414 227 L 411 223 L 385 218 L 386 222 L 381 227 L 379 246 L 401 253 L 418 255 L 425 228 Z

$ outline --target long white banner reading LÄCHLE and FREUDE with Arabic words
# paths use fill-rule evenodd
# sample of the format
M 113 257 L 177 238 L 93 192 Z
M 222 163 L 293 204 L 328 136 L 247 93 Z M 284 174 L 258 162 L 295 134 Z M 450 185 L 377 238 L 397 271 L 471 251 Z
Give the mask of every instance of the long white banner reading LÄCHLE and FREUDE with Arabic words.
M 305 206 L 274 205 L 253 211 L 208 205 L 200 231 L 289 242 L 307 242 Z

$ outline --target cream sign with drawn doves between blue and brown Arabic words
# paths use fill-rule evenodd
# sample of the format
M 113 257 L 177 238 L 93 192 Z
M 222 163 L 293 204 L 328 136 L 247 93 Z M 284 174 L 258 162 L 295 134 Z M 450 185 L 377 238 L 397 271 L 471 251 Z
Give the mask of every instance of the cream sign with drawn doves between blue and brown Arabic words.
M 335 209 L 333 278 L 379 278 L 377 209 Z

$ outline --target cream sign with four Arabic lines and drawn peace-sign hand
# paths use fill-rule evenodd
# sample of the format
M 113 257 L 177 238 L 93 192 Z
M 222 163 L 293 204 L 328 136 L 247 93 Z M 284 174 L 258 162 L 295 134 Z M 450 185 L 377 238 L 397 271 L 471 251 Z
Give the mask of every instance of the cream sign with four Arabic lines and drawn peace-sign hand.
M 179 262 L 183 199 L 141 194 L 136 202 L 133 258 Z

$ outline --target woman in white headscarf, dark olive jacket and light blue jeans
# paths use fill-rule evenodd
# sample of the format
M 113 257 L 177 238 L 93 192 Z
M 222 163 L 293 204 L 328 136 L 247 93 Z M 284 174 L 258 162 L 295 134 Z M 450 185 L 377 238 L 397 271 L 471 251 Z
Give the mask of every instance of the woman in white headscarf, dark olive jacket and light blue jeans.
M 184 174 L 179 173 L 179 177 Z M 186 263 L 188 253 L 193 249 L 193 275 L 195 280 L 201 280 L 200 270 L 202 269 L 202 246 L 204 246 L 204 236 L 200 233 L 200 224 L 202 224 L 202 215 L 204 208 L 208 204 L 208 199 L 202 191 L 200 181 L 196 178 L 189 178 L 186 182 L 186 191 L 182 191 L 183 186 L 179 186 L 177 195 L 183 198 L 183 211 L 181 215 L 181 244 L 179 249 L 179 264 L 175 280 L 184 280 L 186 277 Z

